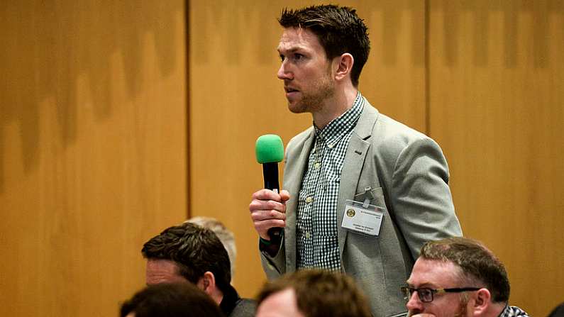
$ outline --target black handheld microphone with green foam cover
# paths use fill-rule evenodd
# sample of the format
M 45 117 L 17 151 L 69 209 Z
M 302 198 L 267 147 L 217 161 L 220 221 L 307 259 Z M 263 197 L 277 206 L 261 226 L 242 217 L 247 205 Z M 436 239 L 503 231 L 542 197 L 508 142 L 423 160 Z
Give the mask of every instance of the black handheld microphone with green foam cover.
M 278 184 L 278 162 L 284 160 L 284 145 L 280 136 L 275 134 L 260 135 L 255 146 L 257 162 L 262 164 L 262 177 L 265 180 L 265 188 L 279 192 Z M 273 227 L 268 229 L 268 236 L 273 243 L 282 240 L 282 228 Z

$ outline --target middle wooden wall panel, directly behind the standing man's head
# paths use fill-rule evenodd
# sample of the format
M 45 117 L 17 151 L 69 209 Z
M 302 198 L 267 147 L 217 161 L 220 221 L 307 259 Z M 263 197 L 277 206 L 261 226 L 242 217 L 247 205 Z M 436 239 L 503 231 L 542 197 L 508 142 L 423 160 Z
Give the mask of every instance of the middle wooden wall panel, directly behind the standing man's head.
M 262 187 L 255 140 L 277 133 L 286 144 L 311 125 L 309 114 L 289 113 L 276 77 L 282 34 L 276 18 L 283 6 L 309 4 L 189 1 L 190 211 L 219 218 L 235 233 L 234 284 L 244 296 L 255 296 L 265 279 L 248 216 L 250 195 Z M 357 8 L 370 28 L 360 90 L 383 113 L 425 131 L 424 3 L 341 4 Z

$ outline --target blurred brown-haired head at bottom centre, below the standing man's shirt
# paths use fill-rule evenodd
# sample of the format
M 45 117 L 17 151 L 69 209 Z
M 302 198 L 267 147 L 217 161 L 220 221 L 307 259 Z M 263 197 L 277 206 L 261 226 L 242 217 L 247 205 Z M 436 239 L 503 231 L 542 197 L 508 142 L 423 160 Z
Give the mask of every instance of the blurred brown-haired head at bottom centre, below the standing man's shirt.
M 319 269 L 268 282 L 258 295 L 257 317 L 370 317 L 370 306 L 353 279 Z

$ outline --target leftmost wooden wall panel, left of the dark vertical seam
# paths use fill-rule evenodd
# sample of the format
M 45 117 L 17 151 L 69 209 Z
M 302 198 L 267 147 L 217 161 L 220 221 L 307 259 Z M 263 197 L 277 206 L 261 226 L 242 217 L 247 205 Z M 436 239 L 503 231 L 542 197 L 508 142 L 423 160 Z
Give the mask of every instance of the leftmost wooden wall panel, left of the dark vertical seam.
M 0 316 L 116 316 L 187 213 L 184 1 L 3 1 L 0 26 Z

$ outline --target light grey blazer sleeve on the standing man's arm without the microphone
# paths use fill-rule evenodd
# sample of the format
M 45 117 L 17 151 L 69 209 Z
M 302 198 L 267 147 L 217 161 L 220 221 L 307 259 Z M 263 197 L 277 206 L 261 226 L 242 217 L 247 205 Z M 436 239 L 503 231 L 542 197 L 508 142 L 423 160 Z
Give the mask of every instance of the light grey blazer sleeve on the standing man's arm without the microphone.
M 416 259 L 428 240 L 461 236 L 448 187 L 448 165 L 431 138 L 416 138 L 397 156 L 389 198 L 397 226 Z

